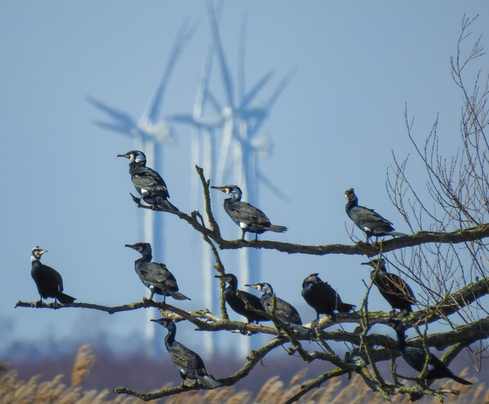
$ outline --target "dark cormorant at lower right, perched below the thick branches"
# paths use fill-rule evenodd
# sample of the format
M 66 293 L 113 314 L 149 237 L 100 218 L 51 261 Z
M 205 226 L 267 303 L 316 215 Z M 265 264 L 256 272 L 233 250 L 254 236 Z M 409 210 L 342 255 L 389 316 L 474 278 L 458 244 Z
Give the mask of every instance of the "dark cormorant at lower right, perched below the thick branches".
M 388 323 L 396 331 L 398 336 L 398 350 L 407 364 L 414 368 L 414 370 L 421 372 L 426 362 L 426 350 L 421 347 L 414 347 L 406 342 L 405 327 L 403 322 L 398 320 L 391 320 Z M 433 379 L 443 379 L 444 377 L 450 377 L 461 384 L 472 384 L 467 382 L 467 380 L 462 379 L 454 375 L 445 364 L 440 361 L 435 355 L 428 352 L 428 372 L 426 373 L 426 381 L 428 384 L 432 382 Z

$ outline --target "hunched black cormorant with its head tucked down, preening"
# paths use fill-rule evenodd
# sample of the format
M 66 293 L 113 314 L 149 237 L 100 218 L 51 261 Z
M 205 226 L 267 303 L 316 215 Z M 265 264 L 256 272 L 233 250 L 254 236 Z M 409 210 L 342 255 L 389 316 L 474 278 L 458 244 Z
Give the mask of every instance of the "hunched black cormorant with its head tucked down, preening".
M 303 280 L 302 297 L 316 311 L 317 320 L 321 313 L 333 317 L 335 311 L 348 313 L 356 308 L 354 304 L 343 303 L 338 292 L 323 282 L 318 274 L 310 274 Z

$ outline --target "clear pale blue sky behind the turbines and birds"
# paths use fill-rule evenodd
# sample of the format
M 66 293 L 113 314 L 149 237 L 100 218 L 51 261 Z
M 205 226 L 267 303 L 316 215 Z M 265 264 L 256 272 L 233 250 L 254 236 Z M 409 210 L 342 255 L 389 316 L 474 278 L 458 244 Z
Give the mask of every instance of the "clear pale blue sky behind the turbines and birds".
M 259 207 L 289 232 L 262 239 L 349 243 L 344 191 L 352 187 L 361 204 L 389 218 L 396 230 L 407 230 L 385 189 L 391 150 L 400 158 L 412 151 L 404 126 L 405 103 L 416 118 L 419 140 L 439 113 L 443 147 L 453 152 L 462 98 L 451 80 L 449 57 L 456 50 L 465 13 L 479 14 L 473 39 L 483 34 L 488 45 L 489 3 L 227 1 L 220 32 L 234 74 L 244 13 L 248 88 L 276 69 L 264 90 L 266 98 L 281 77 L 297 69 L 262 128 L 273 140 L 273 153 L 260 162 L 290 201 L 261 188 Z M 108 316 L 13 306 L 17 300 L 38 299 L 29 262 L 37 245 L 50 250 L 43 262 L 61 272 L 65 292 L 78 301 L 119 305 L 147 296 L 133 271 L 137 255 L 123 248 L 141 241 L 137 209 L 128 197 L 133 187 L 127 161 L 116 158 L 133 149 L 133 142 L 93 125 L 105 117 L 86 96 L 138 119 L 185 20 L 197 24 L 197 31 L 174 71 L 163 115 L 190 112 L 193 106 L 210 40 L 204 1 L 0 3 L 0 320 L 10 324 L 0 328 L 1 344 L 63 338 L 73 331 L 83 342 L 100 330 L 124 336 L 142 328 L 145 316 L 140 312 Z M 486 68 L 488 60 L 484 56 L 478 66 Z M 213 83 L 218 88 L 216 79 Z M 195 162 L 189 159 L 190 129 L 174 129 L 178 142 L 165 147 L 162 174 L 172 202 L 190 212 L 200 208 L 190 205 L 190 175 L 195 175 Z M 409 170 L 416 176 L 422 173 L 414 159 Z M 238 237 L 239 230 L 222 214 L 223 195 L 212 197 L 214 211 L 221 211 L 225 237 Z M 179 306 L 201 308 L 200 237 L 175 216 L 168 216 L 166 223 L 165 262 L 181 291 L 193 298 Z M 225 264 L 234 254 L 223 253 Z M 359 265 L 363 261 L 262 253 L 264 280 L 294 304 L 306 322 L 315 313 L 301 297 L 303 278 L 319 272 L 338 288 L 343 301 L 359 305 L 361 279 L 368 277 Z M 233 271 L 232 265 L 227 269 Z M 370 307 L 389 310 L 375 293 Z M 85 327 L 87 321 L 93 327 Z M 188 338 L 192 335 L 189 331 Z

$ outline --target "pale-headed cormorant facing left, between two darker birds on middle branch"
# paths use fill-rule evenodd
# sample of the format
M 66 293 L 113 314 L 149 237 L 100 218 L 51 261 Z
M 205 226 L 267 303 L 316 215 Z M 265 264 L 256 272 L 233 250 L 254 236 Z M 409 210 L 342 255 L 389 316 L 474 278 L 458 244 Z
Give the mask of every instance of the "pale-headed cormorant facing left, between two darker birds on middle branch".
M 273 289 L 269 283 L 255 283 L 253 285 L 245 285 L 254 287 L 255 289 L 263 292 L 262 297 L 259 298 L 261 301 L 263 308 L 266 313 L 272 315 L 273 307 L 272 307 L 272 298 L 273 298 Z M 310 329 L 302 326 L 301 316 L 299 312 L 296 310 L 292 304 L 287 303 L 287 301 L 280 299 L 280 297 L 275 297 L 276 308 L 275 308 L 275 317 L 288 324 L 290 328 L 296 329 L 301 332 L 308 332 Z M 280 335 L 280 327 L 277 327 L 278 334 Z

